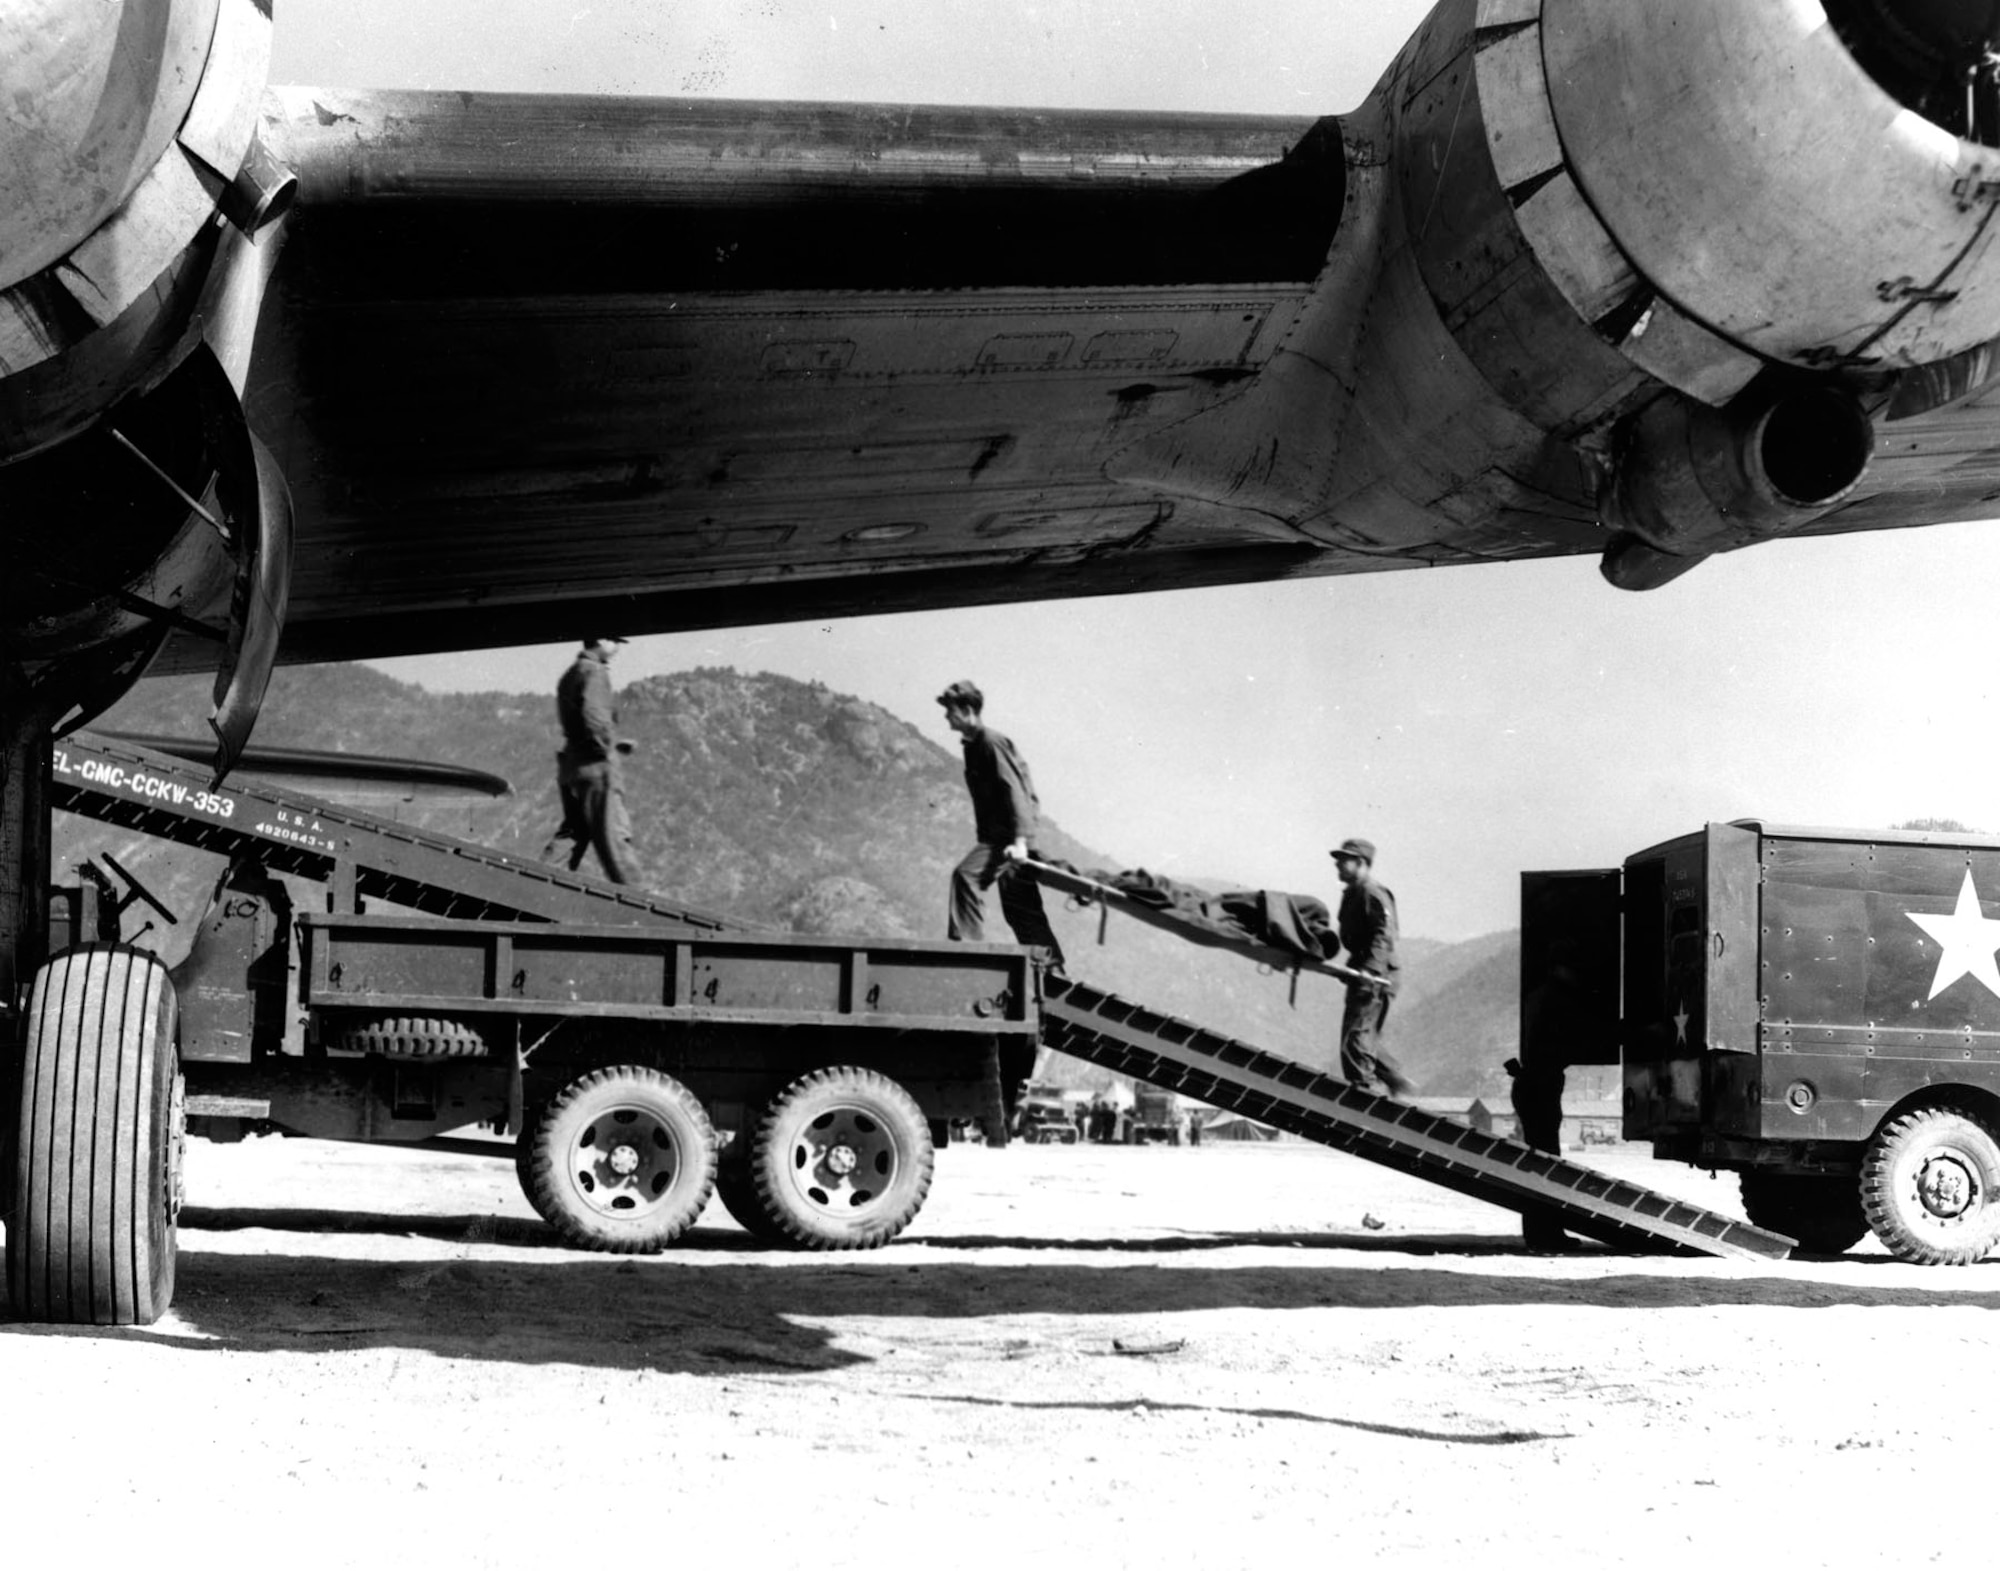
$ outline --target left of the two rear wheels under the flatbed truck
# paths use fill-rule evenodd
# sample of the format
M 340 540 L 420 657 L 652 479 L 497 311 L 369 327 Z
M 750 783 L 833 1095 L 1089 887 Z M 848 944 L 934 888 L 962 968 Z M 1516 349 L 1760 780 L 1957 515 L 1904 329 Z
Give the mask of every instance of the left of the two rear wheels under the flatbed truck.
M 702 1215 L 714 1181 L 716 1131 L 702 1103 L 638 1065 L 572 1081 L 528 1147 L 528 1201 L 584 1249 L 664 1249 Z

